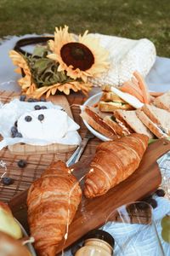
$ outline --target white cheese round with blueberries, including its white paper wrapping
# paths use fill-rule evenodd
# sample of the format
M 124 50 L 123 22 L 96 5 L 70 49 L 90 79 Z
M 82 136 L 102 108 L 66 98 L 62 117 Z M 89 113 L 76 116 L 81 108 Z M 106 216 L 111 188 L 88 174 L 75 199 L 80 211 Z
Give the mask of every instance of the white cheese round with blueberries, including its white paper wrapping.
M 15 143 L 78 145 L 81 141 L 77 133 L 79 125 L 61 109 L 43 98 L 37 101 L 25 95 L 4 104 L 0 109 L 3 136 L 0 149 Z

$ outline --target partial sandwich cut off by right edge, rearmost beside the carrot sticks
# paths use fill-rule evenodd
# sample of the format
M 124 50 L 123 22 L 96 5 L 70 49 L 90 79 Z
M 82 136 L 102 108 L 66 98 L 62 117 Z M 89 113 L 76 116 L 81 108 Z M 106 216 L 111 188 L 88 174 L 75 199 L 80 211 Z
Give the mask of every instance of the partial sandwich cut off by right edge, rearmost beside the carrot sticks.
M 156 97 L 153 104 L 157 108 L 162 108 L 170 112 L 170 90 L 164 93 L 162 96 Z

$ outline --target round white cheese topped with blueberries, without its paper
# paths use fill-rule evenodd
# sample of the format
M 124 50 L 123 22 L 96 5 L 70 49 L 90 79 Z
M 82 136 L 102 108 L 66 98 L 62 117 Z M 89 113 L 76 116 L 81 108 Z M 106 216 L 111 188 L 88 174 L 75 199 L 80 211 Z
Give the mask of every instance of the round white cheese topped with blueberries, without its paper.
M 14 132 L 17 129 L 17 132 L 26 139 L 45 140 L 52 143 L 65 137 L 69 129 L 67 113 L 60 109 L 38 109 L 39 107 L 41 106 L 36 105 L 35 110 L 21 115 L 17 128 L 15 126 L 13 128 Z

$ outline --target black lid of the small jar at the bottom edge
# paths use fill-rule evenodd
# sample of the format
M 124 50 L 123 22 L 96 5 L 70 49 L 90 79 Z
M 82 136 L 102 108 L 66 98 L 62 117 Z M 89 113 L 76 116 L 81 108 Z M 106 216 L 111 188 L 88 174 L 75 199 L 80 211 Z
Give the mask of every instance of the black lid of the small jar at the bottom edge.
M 114 247 L 115 240 L 111 234 L 104 230 L 91 230 L 87 233 L 87 235 L 84 237 L 85 240 L 88 240 L 90 238 L 97 238 L 103 241 L 106 241 L 111 245 L 111 247 Z

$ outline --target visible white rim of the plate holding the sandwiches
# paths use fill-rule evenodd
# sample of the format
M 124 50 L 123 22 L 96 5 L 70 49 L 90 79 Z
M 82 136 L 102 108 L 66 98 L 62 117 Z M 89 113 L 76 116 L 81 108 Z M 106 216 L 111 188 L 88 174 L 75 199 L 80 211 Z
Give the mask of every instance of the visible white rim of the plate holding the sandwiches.
M 99 102 L 99 99 L 101 96 L 102 96 L 102 91 L 95 94 L 94 96 L 91 96 L 90 98 L 88 98 L 88 100 L 86 102 L 84 102 L 84 104 L 82 106 L 88 106 L 88 107 L 94 106 L 95 103 Z M 105 135 L 99 133 L 99 131 L 95 131 L 94 128 L 92 128 L 90 125 L 88 125 L 87 121 L 83 120 L 83 123 L 84 123 L 84 125 L 86 125 L 88 130 L 94 134 L 95 137 L 98 137 L 103 142 L 111 141 L 111 139 L 109 137 L 105 137 Z

